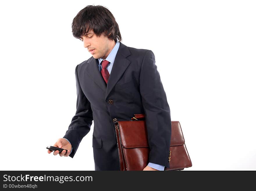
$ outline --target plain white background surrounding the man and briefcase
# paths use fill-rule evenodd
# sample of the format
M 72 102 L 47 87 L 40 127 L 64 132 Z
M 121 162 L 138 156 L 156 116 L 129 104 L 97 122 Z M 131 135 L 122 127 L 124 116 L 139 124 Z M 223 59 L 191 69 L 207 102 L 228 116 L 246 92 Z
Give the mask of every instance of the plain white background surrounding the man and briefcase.
M 193 166 L 256 170 L 255 1 L 1 1 L 1 170 L 94 170 L 92 133 L 74 158 L 48 154 L 76 111 L 75 67 L 91 55 L 71 24 L 113 13 L 123 44 L 154 52 Z

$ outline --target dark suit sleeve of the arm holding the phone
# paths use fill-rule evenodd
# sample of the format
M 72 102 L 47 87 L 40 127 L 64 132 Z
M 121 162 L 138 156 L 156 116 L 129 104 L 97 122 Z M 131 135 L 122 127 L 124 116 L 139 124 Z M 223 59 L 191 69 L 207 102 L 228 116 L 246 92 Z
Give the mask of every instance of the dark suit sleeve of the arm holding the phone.
M 75 69 L 77 87 L 77 110 L 63 138 L 69 140 L 72 145 L 70 157 L 73 158 L 83 137 L 90 131 L 93 121 L 93 112 L 90 102 L 84 95 L 79 79 L 78 65 Z

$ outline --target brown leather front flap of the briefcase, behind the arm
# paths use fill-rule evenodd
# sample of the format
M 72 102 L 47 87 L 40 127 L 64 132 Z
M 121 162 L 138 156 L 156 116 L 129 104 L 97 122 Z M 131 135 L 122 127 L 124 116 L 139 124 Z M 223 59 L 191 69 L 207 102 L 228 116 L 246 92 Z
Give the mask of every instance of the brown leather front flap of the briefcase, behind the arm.
M 121 144 L 123 147 L 149 147 L 145 121 L 118 121 Z M 171 145 L 178 146 L 185 143 L 181 126 L 178 121 L 172 121 Z

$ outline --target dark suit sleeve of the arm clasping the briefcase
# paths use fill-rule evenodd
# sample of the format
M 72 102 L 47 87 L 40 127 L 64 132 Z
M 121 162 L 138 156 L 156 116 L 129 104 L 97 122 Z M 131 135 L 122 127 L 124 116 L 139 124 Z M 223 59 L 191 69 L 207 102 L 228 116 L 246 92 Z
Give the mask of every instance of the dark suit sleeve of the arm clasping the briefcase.
M 170 108 L 151 50 L 147 50 L 143 58 L 139 81 L 150 147 L 149 162 L 169 167 Z

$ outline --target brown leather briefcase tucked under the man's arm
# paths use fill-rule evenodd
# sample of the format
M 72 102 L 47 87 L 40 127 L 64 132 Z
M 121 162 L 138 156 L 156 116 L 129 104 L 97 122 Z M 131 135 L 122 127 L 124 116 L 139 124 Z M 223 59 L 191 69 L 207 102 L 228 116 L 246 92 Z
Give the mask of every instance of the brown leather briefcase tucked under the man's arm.
M 120 170 L 143 170 L 149 163 L 149 144 L 145 114 L 134 114 L 131 121 L 118 121 L 115 123 L 115 132 L 118 142 Z M 164 170 L 183 170 L 192 166 L 185 140 L 178 121 L 171 122 L 171 144 L 169 156 L 170 168 Z

